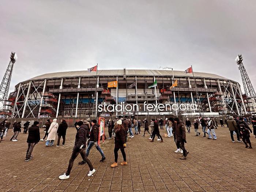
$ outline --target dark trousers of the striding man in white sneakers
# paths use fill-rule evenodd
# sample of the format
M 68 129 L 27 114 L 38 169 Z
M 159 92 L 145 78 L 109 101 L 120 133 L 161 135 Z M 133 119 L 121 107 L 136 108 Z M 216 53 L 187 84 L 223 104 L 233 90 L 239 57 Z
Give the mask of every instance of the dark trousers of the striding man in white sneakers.
M 80 153 L 81 157 L 83 158 L 83 161 L 87 163 L 87 165 L 90 167 L 90 171 L 93 170 L 93 165 L 91 164 L 91 161 L 87 158 L 86 156 L 86 151 L 85 148 L 76 150 L 74 149 L 71 155 L 71 158 L 69 159 L 69 163 L 68 163 L 68 170 L 66 172 L 66 176 L 68 176 L 71 172 L 71 169 L 73 167 L 73 163 L 76 159 L 76 157 L 78 156 L 78 154 Z

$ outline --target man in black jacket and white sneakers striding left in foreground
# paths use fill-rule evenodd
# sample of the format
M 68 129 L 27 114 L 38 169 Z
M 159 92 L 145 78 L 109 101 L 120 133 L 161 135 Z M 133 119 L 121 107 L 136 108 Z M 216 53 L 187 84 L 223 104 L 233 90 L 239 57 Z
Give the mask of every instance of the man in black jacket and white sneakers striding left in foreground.
M 75 146 L 73 148 L 71 158 L 69 159 L 67 172 L 64 173 L 63 175 L 59 176 L 59 179 L 61 179 L 61 180 L 69 178 L 69 174 L 73 167 L 73 163 L 79 153 L 82 156 L 83 161 L 86 162 L 88 164 L 88 166 L 90 167 L 90 171 L 87 174 L 87 176 L 91 176 L 95 172 L 95 169 L 93 168 L 93 165 L 91 164 L 91 161 L 86 156 L 85 146 L 86 146 L 86 140 L 87 140 L 87 137 L 86 137 L 87 130 L 84 129 L 83 127 L 81 127 L 82 125 L 83 125 L 83 121 L 78 121 L 76 124 L 76 128 L 78 131 L 76 133 Z

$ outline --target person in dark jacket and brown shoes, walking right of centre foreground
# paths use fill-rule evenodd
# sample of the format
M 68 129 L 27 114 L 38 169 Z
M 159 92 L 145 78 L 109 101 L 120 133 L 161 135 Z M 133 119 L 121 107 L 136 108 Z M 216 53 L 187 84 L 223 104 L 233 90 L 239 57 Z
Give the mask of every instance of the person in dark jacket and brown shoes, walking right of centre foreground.
M 176 143 L 179 143 L 178 146 L 182 150 L 182 157 L 180 159 L 185 160 L 187 159 L 188 151 L 185 149 L 185 143 L 186 141 L 186 129 L 185 125 L 182 121 L 179 120 L 178 117 L 174 118 L 174 122 L 176 125 Z

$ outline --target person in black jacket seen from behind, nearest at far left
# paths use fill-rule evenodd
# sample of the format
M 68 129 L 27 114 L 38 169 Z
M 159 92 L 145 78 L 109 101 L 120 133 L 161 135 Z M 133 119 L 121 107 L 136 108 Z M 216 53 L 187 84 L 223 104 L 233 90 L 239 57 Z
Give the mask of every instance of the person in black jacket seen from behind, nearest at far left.
M 39 131 L 39 122 L 34 121 L 33 125 L 28 129 L 29 135 L 27 136 L 27 153 L 25 161 L 30 161 L 33 157 L 32 152 L 37 144 L 40 141 L 40 131 Z

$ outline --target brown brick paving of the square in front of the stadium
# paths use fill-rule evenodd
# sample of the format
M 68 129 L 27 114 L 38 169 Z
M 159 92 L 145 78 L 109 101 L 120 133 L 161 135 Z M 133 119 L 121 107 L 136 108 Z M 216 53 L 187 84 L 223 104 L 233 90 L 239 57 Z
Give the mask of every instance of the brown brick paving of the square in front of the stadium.
M 180 160 L 181 154 L 174 153 L 173 138 L 163 138 L 160 143 L 149 142 L 148 135 L 135 135 L 129 138 L 125 150 L 128 165 L 119 164 L 123 160 L 119 151 L 115 168 L 110 167 L 114 142 L 106 140 L 101 145 L 105 162 L 99 162 L 101 155 L 95 147 L 90 151 L 89 159 L 96 169 L 94 176 L 87 176 L 89 167 L 78 165 L 81 158 L 77 158 L 71 177 L 61 181 L 58 176 L 67 169 L 75 132 L 75 128 L 68 128 L 65 146 L 56 147 L 55 142 L 54 147 L 45 147 L 45 142 L 38 143 L 28 162 L 24 162 L 27 135 L 19 134 L 18 142 L 11 142 L 13 132 L 8 132 L 6 140 L 0 143 L 0 192 L 256 191 L 256 139 L 252 134 L 253 149 L 246 149 L 244 143 L 231 142 L 227 128 L 216 130 L 217 140 L 196 137 L 191 129 L 185 145 L 189 151 L 187 160 Z M 161 130 L 162 136 L 163 133 Z

